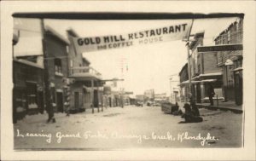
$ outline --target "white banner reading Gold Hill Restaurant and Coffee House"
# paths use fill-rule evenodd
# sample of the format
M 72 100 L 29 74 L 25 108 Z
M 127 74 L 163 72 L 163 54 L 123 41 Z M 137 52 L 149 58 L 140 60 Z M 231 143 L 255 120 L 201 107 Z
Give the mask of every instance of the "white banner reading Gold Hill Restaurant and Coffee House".
M 103 37 L 73 37 L 73 43 L 81 53 L 102 49 L 119 49 L 140 44 L 183 39 L 188 37 L 190 28 L 191 22 L 181 23 L 127 34 Z

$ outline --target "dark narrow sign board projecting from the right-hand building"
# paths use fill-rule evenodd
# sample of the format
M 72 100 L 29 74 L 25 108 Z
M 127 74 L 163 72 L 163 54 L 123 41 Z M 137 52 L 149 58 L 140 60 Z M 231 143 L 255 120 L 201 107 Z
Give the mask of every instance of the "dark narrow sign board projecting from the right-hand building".
M 226 45 L 197 47 L 197 52 L 235 51 L 235 50 L 242 50 L 242 44 L 226 44 Z

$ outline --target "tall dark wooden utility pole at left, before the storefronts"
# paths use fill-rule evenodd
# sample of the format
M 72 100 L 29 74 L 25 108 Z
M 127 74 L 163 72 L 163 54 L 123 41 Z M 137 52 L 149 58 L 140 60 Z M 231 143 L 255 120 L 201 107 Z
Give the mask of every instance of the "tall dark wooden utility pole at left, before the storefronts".
M 49 68 L 48 68 L 48 51 L 46 49 L 45 43 L 45 29 L 44 29 L 44 19 L 41 19 L 41 29 L 42 29 L 42 43 L 43 43 L 43 54 L 44 54 L 44 90 L 45 90 L 45 103 L 46 103 L 46 110 L 48 112 L 48 120 L 47 123 L 52 121 L 55 123 L 54 117 L 54 109 L 52 106 L 53 99 L 50 93 L 50 82 L 49 82 Z

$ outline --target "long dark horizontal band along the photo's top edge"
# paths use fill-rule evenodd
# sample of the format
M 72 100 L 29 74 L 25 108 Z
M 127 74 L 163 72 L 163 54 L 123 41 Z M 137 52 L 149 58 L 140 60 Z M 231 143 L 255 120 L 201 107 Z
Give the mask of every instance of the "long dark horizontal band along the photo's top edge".
M 65 20 L 165 20 L 165 19 L 205 19 L 224 17 L 244 17 L 241 13 L 159 13 L 159 12 L 48 12 L 15 13 L 15 18 L 65 19 Z

